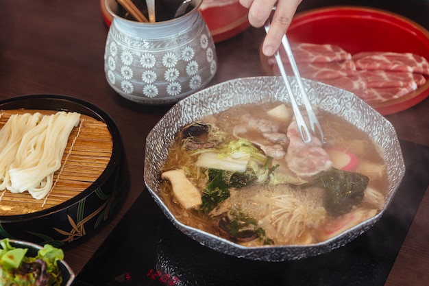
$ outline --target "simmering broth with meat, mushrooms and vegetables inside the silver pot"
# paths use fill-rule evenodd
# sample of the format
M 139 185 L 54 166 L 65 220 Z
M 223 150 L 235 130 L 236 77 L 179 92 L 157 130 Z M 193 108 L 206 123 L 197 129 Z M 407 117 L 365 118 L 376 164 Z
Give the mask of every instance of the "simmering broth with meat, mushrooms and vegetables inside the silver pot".
M 317 116 L 325 138 L 308 145 L 280 102 L 186 126 L 162 167 L 164 202 L 180 222 L 245 246 L 318 243 L 373 217 L 387 191 L 378 146 L 341 117 Z

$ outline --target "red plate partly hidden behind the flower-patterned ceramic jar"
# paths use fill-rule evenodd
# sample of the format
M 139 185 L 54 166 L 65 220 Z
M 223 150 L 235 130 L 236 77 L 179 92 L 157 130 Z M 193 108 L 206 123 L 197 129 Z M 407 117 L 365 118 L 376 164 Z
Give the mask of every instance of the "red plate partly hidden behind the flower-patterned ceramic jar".
M 106 9 L 106 0 L 100 0 L 100 7 L 104 23 L 110 26 L 113 17 Z M 206 21 L 215 43 L 232 38 L 250 27 L 247 20 L 247 9 L 238 0 L 225 5 L 210 5 L 208 7 L 201 5 L 199 12 Z

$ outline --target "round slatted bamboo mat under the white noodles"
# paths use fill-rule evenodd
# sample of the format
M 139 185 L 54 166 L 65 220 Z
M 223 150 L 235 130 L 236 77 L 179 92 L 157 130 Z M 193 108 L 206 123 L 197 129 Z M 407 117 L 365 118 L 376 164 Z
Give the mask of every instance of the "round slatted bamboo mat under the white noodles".
M 40 112 L 49 115 L 49 110 L 1 110 L 0 128 L 12 114 Z M 79 125 L 73 128 L 61 167 L 54 173 L 51 192 L 41 200 L 32 198 L 27 191 L 11 193 L 0 190 L 0 216 L 33 213 L 66 202 L 82 193 L 106 169 L 112 156 L 112 136 L 106 123 L 81 115 Z

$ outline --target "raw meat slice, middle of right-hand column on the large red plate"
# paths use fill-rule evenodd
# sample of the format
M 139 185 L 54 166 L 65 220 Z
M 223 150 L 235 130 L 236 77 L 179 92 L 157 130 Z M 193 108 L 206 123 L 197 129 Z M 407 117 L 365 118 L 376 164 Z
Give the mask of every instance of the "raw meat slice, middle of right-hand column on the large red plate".
M 365 78 L 367 86 L 370 87 L 402 87 L 421 86 L 426 82 L 423 75 L 419 73 L 408 73 L 404 71 L 381 71 L 369 70 L 358 71 Z

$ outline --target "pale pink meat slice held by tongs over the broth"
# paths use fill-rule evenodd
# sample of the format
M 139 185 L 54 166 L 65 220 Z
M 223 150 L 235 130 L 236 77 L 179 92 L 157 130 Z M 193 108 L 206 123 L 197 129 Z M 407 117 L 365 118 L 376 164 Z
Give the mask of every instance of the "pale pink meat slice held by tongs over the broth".
M 298 176 L 312 176 L 332 167 L 328 152 L 322 148 L 317 137 L 312 136 L 310 143 L 304 143 L 299 134 L 296 121 L 287 130 L 289 147 L 286 151 L 286 163 Z

